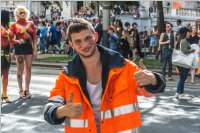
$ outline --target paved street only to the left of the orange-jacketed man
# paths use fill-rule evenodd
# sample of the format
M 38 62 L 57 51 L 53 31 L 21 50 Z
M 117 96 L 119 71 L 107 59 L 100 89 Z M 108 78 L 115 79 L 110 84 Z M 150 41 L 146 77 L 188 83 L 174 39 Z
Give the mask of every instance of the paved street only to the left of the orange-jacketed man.
M 43 120 L 43 106 L 60 70 L 37 67 L 31 80 L 32 99 L 19 100 L 15 67 L 9 75 L 8 95 L 11 104 L 3 104 L 2 133 L 63 133 L 62 125 L 52 126 Z

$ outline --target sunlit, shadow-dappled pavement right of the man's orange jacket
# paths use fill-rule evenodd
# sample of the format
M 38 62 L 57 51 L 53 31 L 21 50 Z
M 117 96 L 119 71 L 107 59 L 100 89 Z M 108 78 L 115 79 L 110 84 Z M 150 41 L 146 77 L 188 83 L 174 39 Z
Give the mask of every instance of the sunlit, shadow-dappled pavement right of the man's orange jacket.
M 175 83 L 168 83 L 164 94 L 139 98 L 142 109 L 142 133 L 199 133 L 200 82 L 187 84 L 182 99 L 174 97 Z

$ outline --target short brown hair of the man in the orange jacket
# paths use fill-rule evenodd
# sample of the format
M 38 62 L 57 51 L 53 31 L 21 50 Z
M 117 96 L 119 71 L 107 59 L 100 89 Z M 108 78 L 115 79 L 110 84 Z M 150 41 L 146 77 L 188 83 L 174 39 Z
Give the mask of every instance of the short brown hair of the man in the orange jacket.
M 72 33 L 79 33 L 80 31 L 87 30 L 87 29 L 91 30 L 92 33 L 95 33 L 95 30 L 92 24 L 85 19 L 75 18 L 72 20 L 72 22 L 73 23 L 70 24 L 67 29 L 67 36 L 68 36 L 69 41 L 72 40 L 71 38 Z

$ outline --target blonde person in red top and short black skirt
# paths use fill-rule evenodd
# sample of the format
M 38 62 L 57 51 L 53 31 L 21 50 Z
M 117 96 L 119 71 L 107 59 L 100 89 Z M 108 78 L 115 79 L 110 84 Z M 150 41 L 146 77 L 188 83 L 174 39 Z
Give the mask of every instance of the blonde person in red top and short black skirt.
M 10 27 L 14 54 L 17 65 L 17 81 L 20 98 L 31 98 L 29 84 L 31 79 L 31 65 L 33 57 L 37 56 L 36 29 L 33 22 L 28 21 L 29 11 L 24 6 L 15 9 L 16 22 Z M 25 69 L 25 90 L 22 85 L 23 71 Z

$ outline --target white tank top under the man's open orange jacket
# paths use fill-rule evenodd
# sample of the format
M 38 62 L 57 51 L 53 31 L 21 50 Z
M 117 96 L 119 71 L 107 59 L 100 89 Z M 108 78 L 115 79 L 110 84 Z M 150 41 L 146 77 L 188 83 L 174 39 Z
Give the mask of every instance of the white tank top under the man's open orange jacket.
M 98 84 L 91 84 L 87 81 L 87 90 L 91 100 L 93 112 L 96 120 L 97 133 L 100 133 L 100 104 L 102 96 L 102 83 L 101 81 Z

